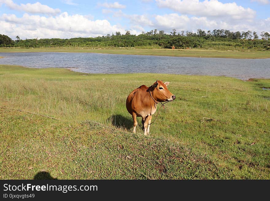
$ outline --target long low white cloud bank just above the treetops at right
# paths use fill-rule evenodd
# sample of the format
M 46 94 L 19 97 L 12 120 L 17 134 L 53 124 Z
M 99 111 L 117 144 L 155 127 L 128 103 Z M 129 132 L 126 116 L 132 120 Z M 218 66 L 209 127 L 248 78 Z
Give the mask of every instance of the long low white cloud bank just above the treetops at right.
M 179 13 L 170 13 L 164 15 L 137 15 L 126 14 L 122 10 L 113 11 L 110 10 L 112 17 L 121 19 L 129 19 L 130 27 L 140 34 L 142 31 L 149 31 L 151 29 L 164 30 L 165 33 L 172 32 L 172 29 L 176 29 L 177 32 L 190 31 L 196 32 L 197 29 L 204 31 L 214 29 L 227 29 L 232 32 L 252 30 L 259 32 L 260 30 L 268 30 L 268 20 L 253 20 L 250 17 L 245 17 L 241 20 L 233 19 L 230 16 L 188 16 L 180 15 Z M 235 17 L 237 18 L 237 17 Z M 121 32 L 122 33 L 122 32 Z

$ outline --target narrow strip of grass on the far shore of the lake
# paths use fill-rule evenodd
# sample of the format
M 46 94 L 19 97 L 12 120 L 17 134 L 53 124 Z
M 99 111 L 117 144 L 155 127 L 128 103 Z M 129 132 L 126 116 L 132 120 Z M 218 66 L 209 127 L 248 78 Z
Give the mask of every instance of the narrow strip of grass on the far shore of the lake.
M 239 58 L 258 59 L 270 58 L 270 51 L 228 51 L 228 50 L 203 50 L 203 49 L 137 49 L 137 48 L 114 48 L 114 49 L 92 49 L 92 48 L 0 48 L 0 52 L 90 52 L 102 54 L 134 54 L 174 57 L 203 57 L 203 58 Z

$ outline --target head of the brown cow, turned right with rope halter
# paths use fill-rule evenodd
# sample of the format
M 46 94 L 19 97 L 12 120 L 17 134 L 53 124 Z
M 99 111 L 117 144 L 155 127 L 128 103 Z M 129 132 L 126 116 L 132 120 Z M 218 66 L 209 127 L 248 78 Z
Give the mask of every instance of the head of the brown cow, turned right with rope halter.
M 173 95 L 167 88 L 169 82 L 164 82 L 156 80 L 156 82 L 151 86 L 151 91 L 153 92 L 153 98 L 158 102 L 172 101 L 175 99 Z

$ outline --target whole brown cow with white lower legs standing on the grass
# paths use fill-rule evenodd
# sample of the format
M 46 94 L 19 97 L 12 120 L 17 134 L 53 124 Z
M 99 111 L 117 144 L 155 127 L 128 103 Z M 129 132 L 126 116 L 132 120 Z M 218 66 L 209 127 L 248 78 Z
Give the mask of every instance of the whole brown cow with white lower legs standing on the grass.
M 157 103 L 175 99 L 175 95 L 167 88 L 168 84 L 170 83 L 156 80 L 152 86 L 141 85 L 129 94 L 126 99 L 126 108 L 133 118 L 133 132 L 136 132 L 137 117 L 141 117 L 145 129 L 144 134 L 149 134 L 152 114 L 156 112 Z

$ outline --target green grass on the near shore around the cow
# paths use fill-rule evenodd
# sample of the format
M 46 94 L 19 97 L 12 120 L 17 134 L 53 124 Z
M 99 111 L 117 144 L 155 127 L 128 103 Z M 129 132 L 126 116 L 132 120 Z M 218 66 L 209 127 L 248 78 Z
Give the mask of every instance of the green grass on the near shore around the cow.
M 126 97 L 157 79 L 176 100 L 133 134 Z M 0 179 L 270 179 L 270 80 L 0 65 L 0 86 L 0 106 L 64 120 L 0 108 Z

